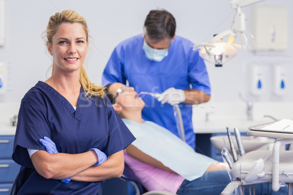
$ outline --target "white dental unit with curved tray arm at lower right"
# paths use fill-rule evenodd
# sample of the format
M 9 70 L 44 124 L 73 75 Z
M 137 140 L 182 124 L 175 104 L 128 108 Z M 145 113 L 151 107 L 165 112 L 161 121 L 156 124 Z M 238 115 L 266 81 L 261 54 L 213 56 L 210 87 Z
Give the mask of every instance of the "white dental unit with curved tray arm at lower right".
M 282 145 L 293 143 L 293 132 L 266 131 L 263 127 L 273 124 L 266 123 L 250 127 L 249 136 L 277 138 L 271 150 L 251 151 L 241 156 L 230 170 L 230 176 L 236 178 L 230 182 L 221 195 L 231 195 L 238 186 L 271 182 L 272 190 L 289 183 L 288 195 L 293 193 L 293 151 L 281 150 Z

